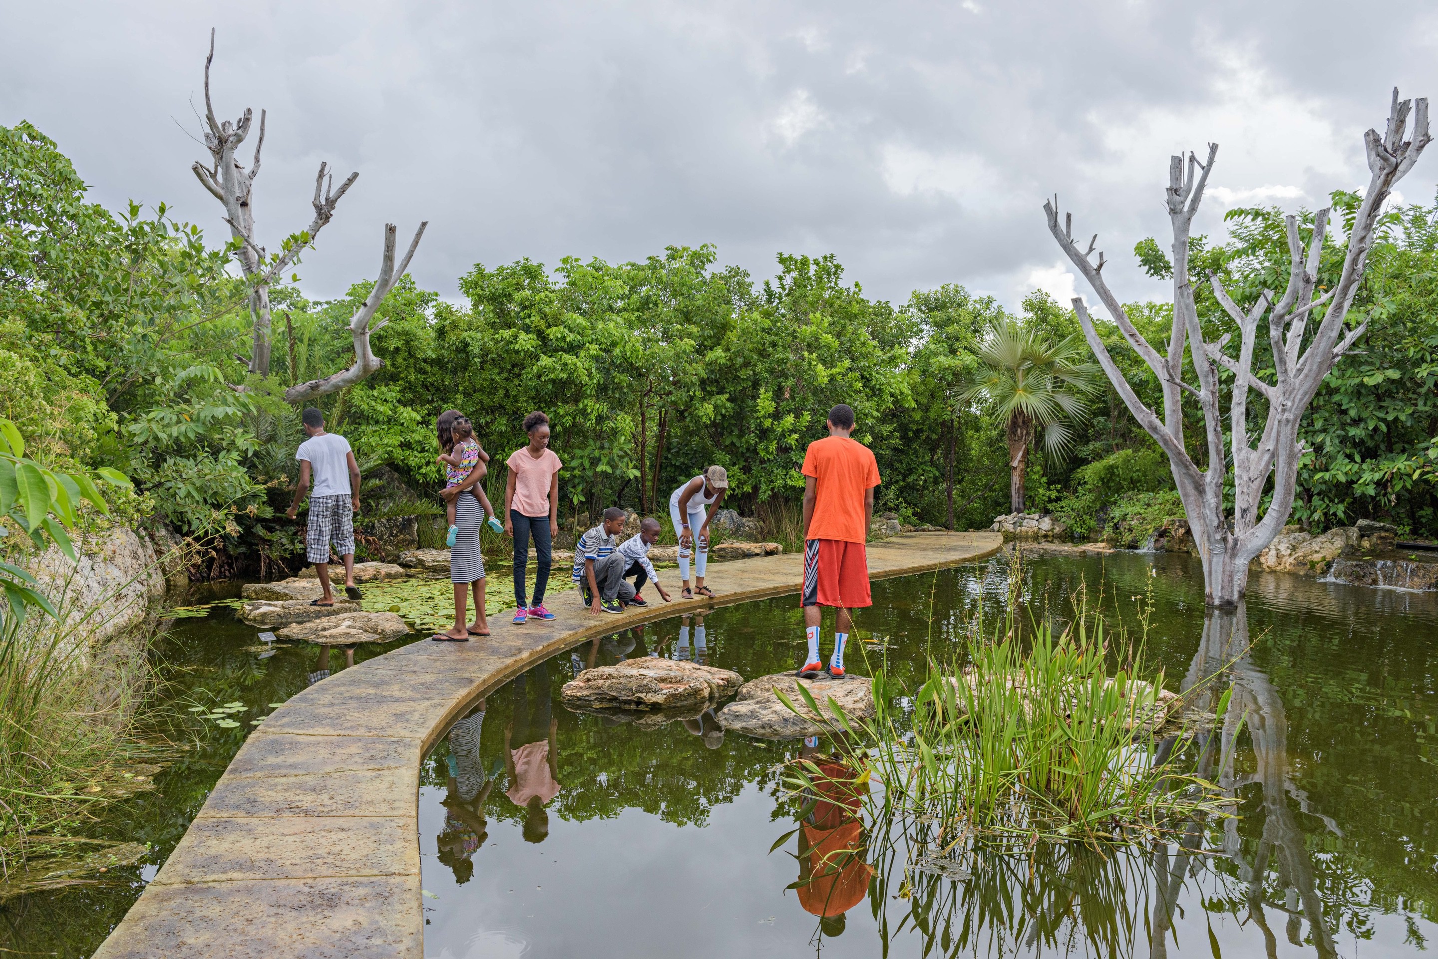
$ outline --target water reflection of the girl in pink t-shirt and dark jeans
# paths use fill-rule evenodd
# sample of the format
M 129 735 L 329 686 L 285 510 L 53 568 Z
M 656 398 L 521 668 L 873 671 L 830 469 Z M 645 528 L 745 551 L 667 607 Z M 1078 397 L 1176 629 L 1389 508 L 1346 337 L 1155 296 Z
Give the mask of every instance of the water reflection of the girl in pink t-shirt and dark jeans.
M 515 717 L 505 726 L 505 772 L 509 774 L 509 801 L 525 809 L 526 843 L 544 843 L 549 835 L 549 811 L 545 804 L 559 794 L 559 766 L 555 733 L 559 720 L 549 699 L 549 669 L 541 663 L 518 676 Z

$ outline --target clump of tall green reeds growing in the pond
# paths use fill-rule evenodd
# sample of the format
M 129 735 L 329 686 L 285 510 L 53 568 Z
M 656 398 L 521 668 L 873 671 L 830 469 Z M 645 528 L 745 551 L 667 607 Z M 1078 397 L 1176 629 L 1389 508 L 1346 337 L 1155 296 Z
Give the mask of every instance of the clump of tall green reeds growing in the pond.
M 1231 815 L 1232 799 L 1205 778 L 1208 749 L 1185 748 L 1182 700 L 1148 673 L 1142 644 L 1114 643 L 1084 610 L 1061 628 L 1047 617 L 1024 634 L 1018 624 L 1011 604 L 991 635 L 975 628 L 955 654 L 930 659 L 917 689 L 874 670 L 871 720 L 800 687 L 833 717 L 830 738 L 848 742 L 856 778 L 880 785 L 873 830 L 948 855 L 974 843 L 1152 840 Z M 812 788 L 815 775 L 801 762 L 791 785 Z

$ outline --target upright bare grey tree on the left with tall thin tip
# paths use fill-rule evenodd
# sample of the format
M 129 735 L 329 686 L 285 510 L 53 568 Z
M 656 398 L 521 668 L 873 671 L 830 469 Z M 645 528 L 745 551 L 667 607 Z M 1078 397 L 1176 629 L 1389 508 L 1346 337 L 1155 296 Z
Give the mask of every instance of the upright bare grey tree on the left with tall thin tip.
M 255 177 L 260 171 L 260 150 L 265 147 L 265 111 L 260 111 L 260 129 L 255 139 L 255 160 L 250 168 L 236 157 L 236 151 L 250 134 L 253 111 L 246 106 L 244 114 L 234 122 L 219 121 L 214 116 L 214 104 L 210 99 L 210 63 L 214 60 L 214 30 L 210 30 L 210 55 L 204 58 L 204 145 L 210 148 L 213 162 L 206 167 L 194 162 L 190 168 L 194 175 L 209 190 L 216 200 L 224 204 L 224 221 L 230 226 L 230 234 L 242 242 L 234 253 L 234 259 L 244 273 L 244 280 L 250 288 L 250 319 L 255 335 L 250 347 L 250 372 L 262 377 L 269 375 L 270 367 L 270 306 L 269 288 L 295 265 L 301 250 L 312 244 L 319 230 L 329 223 L 335 214 L 335 204 L 345 196 L 360 177 L 358 173 L 334 188 L 334 177 L 328 164 L 319 164 L 315 175 L 315 219 L 309 229 L 285 240 L 280 253 L 275 257 L 266 254 L 265 247 L 255 239 L 255 207 L 252 194 Z

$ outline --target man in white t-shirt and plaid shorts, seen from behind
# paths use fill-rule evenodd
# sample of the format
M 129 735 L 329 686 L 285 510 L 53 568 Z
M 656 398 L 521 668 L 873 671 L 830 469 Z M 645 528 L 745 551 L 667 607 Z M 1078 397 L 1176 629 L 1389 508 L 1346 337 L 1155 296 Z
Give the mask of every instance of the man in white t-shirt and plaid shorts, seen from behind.
M 360 512 L 360 464 L 348 440 L 335 433 L 325 433 L 325 414 L 309 407 L 301 414 L 308 440 L 295 450 L 299 460 L 299 482 L 295 485 L 295 502 L 285 512 L 295 519 L 305 490 L 313 479 L 309 492 L 309 525 L 305 531 L 305 558 L 315 564 L 324 595 L 312 605 L 332 607 L 335 597 L 329 591 L 329 543 L 345 561 L 345 595 L 360 598 L 355 588 L 355 529 L 354 513 Z

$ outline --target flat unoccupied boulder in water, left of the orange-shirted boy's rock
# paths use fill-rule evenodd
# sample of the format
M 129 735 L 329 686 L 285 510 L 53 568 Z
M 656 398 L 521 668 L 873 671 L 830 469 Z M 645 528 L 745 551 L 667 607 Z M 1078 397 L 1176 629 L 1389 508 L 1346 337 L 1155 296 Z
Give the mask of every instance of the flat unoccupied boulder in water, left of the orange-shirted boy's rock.
M 584 670 L 564 684 L 568 709 L 664 710 L 703 709 L 728 699 L 743 683 L 733 670 L 684 660 L 644 656 Z

